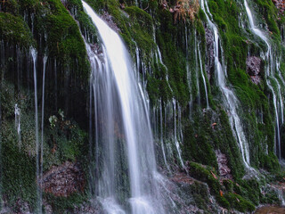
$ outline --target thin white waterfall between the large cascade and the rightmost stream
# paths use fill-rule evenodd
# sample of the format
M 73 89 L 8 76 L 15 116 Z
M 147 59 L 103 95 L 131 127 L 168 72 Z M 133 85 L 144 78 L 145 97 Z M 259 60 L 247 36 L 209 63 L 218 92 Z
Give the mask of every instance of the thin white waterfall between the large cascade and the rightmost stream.
M 240 122 L 240 117 L 237 113 L 239 102 L 236 96 L 234 95 L 232 89 L 226 86 L 226 78 L 225 78 L 226 70 L 223 62 L 220 62 L 220 57 L 219 57 L 219 48 L 222 47 L 220 47 L 219 45 L 220 38 L 218 35 L 218 29 L 216 28 L 216 25 L 208 17 L 208 14 L 210 15 L 211 13 L 208 10 L 207 0 L 201 0 L 201 9 L 206 14 L 209 27 L 214 31 L 216 83 L 224 95 L 224 107 L 229 115 L 232 132 L 235 134 L 237 142 L 239 143 L 242 161 L 244 162 L 244 165 L 247 169 L 251 169 L 251 167 L 249 166 L 250 161 L 249 161 L 248 142 L 243 132 L 243 128 Z M 221 53 L 223 53 L 223 51 L 221 51 Z

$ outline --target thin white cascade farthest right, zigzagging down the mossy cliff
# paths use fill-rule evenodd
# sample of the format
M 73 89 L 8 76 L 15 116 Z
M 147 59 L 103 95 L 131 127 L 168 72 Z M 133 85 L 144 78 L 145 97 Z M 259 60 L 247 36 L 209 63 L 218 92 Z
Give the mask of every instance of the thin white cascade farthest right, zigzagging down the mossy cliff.
M 273 52 L 272 52 L 272 46 L 270 45 L 270 42 L 268 40 L 268 38 L 265 36 L 265 33 L 263 31 L 261 31 L 260 29 L 258 29 L 256 27 L 255 21 L 254 21 L 254 17 L 252 15 L 252 12 L 250 11 L 250 8 L 248 6 L 248 2 L 247 0 L 244 0 L 244 5 L 246 7 L 246 11 L 248 14 L 248 21 L 249 21 L 249 25 L 250 25 L 250 29 L 252 31 L 253 34 L 255 34 L 257 37 L 259 37 L 261 40 L 263 40 L 267 46 L 267 51 L 265 53 L 265 61 L 269 62 L 269 64 L 266 65 L 265 68 L 265 78 L 266 78 L 266 84 L 269 87 L 269 89 L 271 90 L 271 92 L 273 93 L 273 105 L 274 105 L 274 113 L 275 113 L 275 123 L 276 123 L 276 128 L 275 128 L 275 136 L 276 136 L 276 144 L 275 144 L 275 153 L 278 156 L 279 159 L 281 159 L 281 137 L 280 137 L 280 127 L 281 127 L 281 123 L 283 123 L 283 119 L 284 119 L 284 115 L 283 115 L 283 99 L 281 96 L 281 85 L 279 83 L 279 81 L 273 76 L 275 75 L 275 70 L 274 70 L 274 60 L 273 60 Z M 277 63 L 278 64 L 278 63 Z M 280 72 L 278 70 L 277 67 L 277 71 Z M 283 86 L 284 84 L 284 80 L 281 77 L 281 74 L 279 73 L 279 77 L 282 80 Z M 280 114 L 278 112 L 278 103 L 277 103 L 277 95 L 275 94 L 275 91 L 273 89 L 273 85 L 271 83 L 271 79 L 273 79 L 273 81 L 275 82 L 275 84 L 278 87 L 278 97 L 279 97 L 279 104 L 280 104 L 280 108 L 281 108 L 281 123 L 280 123 Z M 278 148 L 276 148 L 278 147 Z M 278 149 L 278 150 L 277 150 Z

